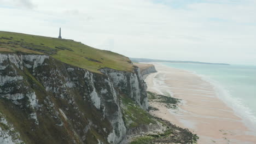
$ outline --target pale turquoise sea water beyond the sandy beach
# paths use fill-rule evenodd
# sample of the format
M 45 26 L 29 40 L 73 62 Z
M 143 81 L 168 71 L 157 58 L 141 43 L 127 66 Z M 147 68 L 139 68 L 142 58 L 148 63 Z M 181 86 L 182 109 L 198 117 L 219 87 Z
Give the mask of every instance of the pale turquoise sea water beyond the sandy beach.
M 256 127 L 256 66 L 162 63 L 172 68 L 192 71 L 211 82 L 219 99 L 243 118 L 249 127 Z

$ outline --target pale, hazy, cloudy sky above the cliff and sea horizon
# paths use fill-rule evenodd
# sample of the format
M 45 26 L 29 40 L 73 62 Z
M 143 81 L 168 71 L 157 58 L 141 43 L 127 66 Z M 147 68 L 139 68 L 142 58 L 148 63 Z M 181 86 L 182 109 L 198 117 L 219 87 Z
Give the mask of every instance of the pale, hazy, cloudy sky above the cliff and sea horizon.
M 0 0 L 0 31 L 127 57 L 256 65 L 256 0 Z

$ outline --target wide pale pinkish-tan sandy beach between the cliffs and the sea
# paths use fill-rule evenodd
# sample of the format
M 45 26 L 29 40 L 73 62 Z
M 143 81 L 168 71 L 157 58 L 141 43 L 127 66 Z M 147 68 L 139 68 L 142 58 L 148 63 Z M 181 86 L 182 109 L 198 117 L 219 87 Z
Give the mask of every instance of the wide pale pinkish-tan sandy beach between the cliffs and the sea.
M 149 103 L 159 110 L 150 111 L 182 128 L 188 128 L 200 137 L 198 143 L 256 143 L 252 131 L 234 111 L 218 99 L 211 83 L 189 71 L 153 63 L 158 73 L 145 80 L 148 91 L 181 99 L 179 109 L 167 109 L 158 103 Z

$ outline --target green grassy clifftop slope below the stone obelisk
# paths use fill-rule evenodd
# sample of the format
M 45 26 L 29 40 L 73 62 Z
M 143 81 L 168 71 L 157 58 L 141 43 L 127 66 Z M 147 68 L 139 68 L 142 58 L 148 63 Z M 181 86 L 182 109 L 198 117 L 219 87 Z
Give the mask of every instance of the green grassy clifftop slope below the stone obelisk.
M 129 58 L 111 51 L 98 50 L 77 41 L 0 31 L 0 53 L 34 53 L 49 55 L 59 61 L 100 73 L 108 67 L 132 71 Z

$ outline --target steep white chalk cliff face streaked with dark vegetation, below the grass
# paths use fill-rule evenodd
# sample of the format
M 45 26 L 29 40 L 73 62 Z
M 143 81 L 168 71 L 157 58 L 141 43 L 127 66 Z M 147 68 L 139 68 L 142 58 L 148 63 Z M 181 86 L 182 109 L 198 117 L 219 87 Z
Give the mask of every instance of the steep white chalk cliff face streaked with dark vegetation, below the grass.
M 0 143 L 119 143 L 120 95 L 148 109 L 134 73 L 73 67 L 46 55 L 0 54 Z

